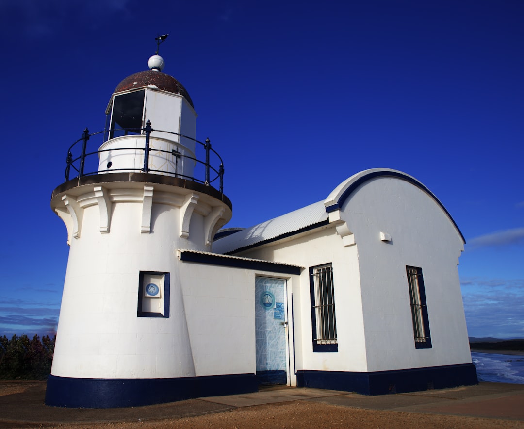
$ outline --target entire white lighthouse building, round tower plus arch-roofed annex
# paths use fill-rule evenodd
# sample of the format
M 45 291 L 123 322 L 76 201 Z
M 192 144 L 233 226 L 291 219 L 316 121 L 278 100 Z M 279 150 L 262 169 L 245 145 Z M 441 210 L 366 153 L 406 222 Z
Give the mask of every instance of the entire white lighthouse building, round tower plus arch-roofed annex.
M 52 194 L 70 254 L 47 404 L 136 406 L 259 383 L 385 394 L 477 382 L 464 238 L 419 181 L 363 171 L 324 201 L 216 234 L 232 204 L 209 141 L 196 178 L 182 85 L 155 67 L 135 73 L 106 113 L 108 129 L 126 131 L 106 133 L 93 174 L 71 153 L 78 177 Z

